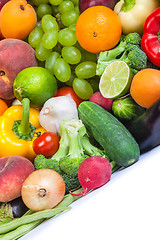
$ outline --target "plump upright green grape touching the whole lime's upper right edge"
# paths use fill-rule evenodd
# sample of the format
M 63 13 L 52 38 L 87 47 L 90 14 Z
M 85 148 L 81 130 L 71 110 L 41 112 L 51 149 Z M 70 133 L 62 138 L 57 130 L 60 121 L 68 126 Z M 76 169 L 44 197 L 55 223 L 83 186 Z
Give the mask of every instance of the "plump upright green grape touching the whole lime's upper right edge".
M 60 82 L 67 82 L 71 77 L 71 68 L 63 58 L 56 59 L 53 71 Z

